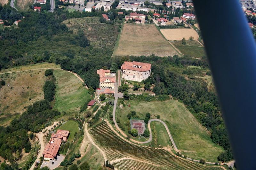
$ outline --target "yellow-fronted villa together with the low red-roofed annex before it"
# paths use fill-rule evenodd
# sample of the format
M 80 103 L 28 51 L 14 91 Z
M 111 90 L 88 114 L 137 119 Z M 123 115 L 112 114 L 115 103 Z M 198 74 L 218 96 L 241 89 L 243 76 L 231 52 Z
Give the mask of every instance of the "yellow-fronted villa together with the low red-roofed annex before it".
M 100 75 L 100 88 L 97 89 L 98 94 L 114 94 L 116 76 L 115 73 L 111 75 L 110 70 L 97 70 Z

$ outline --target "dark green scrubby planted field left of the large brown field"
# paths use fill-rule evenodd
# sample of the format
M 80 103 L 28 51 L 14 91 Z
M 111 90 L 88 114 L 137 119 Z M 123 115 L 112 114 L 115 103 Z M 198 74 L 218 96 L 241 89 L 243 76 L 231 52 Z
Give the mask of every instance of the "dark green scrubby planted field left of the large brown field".
M 63 21 L 69 30 L 84 31 L 90 44 L 95 48 L 114 48 L 118 36 L 118 24 L 100 23 L 99 17 L 71 18 Z

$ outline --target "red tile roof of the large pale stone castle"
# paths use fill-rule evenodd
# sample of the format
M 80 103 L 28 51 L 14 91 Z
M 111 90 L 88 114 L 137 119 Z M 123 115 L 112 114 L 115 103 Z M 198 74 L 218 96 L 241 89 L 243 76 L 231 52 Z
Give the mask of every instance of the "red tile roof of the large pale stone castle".
M 134 67 L 134 66 L 140 66 L 141 68 Z M 140 63 L 140 62 L 127 62 L 125 61 L 122 65 L 122 70 L 133 70 L 133 71 L 149 71 L 151 69 L 151 64 L 149 63 Z

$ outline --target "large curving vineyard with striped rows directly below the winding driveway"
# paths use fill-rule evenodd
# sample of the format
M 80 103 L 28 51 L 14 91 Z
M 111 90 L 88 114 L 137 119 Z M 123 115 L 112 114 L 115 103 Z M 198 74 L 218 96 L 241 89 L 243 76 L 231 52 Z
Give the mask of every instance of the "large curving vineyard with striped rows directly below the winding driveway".
M 118 158 L 132 157 L 158 165 L 160 169 L 220 169 L 220 167 L 202 166 L 198 163 L 178 158 L 164 149 L 139 146 L 126 142 L 117 136 L 106 122 L 101 122 L 90 129 L 90 133 L 95 143 L 101 147 L 110 161 Z M 133 166 L 133 164 L 127 165 L 127 167 L 130 166 Z

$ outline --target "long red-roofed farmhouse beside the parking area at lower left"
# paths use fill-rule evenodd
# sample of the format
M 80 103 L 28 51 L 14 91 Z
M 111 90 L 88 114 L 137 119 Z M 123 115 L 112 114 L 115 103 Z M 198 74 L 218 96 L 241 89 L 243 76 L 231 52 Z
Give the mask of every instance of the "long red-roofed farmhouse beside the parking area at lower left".
M 45 160 L 53 160 L 56 158 L 59 152 L 62 141 L 67 142 L 69 131 L 57 130 L 56 133 L 52 133 L 49 143 L 45 146 L 43 156 Z

